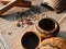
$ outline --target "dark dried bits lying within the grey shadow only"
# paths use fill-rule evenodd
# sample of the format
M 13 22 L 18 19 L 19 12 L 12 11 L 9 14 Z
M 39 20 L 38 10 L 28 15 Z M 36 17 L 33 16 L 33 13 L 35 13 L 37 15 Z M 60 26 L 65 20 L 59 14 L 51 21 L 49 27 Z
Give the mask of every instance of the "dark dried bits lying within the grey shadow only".
M 23 16 L 33 16 L 35 14 L 41 14 L 44 12 L 44 8 L 41 5 L 32 5 L 29 10 L 24 10 L 23 12 L 15 13 L 16 19 L 23 17 Z

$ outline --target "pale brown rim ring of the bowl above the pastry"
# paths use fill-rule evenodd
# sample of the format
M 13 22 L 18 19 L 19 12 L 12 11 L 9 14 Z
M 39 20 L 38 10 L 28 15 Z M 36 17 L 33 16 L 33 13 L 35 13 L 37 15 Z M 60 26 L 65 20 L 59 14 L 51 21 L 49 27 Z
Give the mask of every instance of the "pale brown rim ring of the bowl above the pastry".
M 37 24 L 36 24 L 36 28 L 40 30 L 40 32 L 42 32 L 42 33 L 46 33 L 46 34 L 51 34 L 51 33 L 53 33 L 53 32 L 55 32 L 56 30 L 56 28 L 58 27 L 58 24 L 57 24 L 57 22 L 54 20 L 54 19 L 51 19 L 51 17 L 45 17 L 45 19 L 48 19 L 48 20 L 52 20 L 54 23 L 55 23 L 55 28 L 53 28 L 52 30 L 45 30 L 45 29 L 42 29 L 40 26 L 38 26 L 38 23 L 40 23 L 40 21 L 37 22 Z M 44 20 L 44 19 L 42 19 L 42 20 Z

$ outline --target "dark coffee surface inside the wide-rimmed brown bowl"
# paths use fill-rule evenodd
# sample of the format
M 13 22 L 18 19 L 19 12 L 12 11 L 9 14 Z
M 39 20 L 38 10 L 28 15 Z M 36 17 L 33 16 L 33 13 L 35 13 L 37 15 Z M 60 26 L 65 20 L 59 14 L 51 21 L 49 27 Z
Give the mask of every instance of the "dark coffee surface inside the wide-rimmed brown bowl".
M 38 22 L 38 26 L 44 30 L 52 30 L 55 28 L 55 23 L 50 19 L 43 19 Z

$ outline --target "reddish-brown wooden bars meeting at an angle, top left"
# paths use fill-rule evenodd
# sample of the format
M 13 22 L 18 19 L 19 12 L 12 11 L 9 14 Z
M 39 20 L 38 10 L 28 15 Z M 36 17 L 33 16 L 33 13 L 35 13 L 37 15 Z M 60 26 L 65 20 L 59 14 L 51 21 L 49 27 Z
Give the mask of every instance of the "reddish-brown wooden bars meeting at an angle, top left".
M 7 5 L 8 3 L 10 3 L 11 1 L 1 1 L 4 5 Z M 25 7 L 25 8 L 30 8 L 31 7 L 31 2 L 30 1 L 22 1 L 22 0 L 16 0 L 13 1 L 12 3 L 10 3 L 9 5 L 4 7 L 3 9 L 0 10 L 0 14 L 4 13 L 6 11 L 8 11 L 9 9 L 11 9 L 12 7 Z

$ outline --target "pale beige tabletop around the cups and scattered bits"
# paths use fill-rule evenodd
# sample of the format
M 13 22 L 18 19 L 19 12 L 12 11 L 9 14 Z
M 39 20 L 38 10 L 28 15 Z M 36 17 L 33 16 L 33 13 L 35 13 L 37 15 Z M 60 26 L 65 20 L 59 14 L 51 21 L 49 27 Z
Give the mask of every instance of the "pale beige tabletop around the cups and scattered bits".
M 12 14 L 28 9 L 29 8 L 13 7 L 12 9 L 3 13 L 3 15 Z M 45 13 L 48 17 L 55 19 L 58 22 L 62 19 L 62 16 L 66 14 L 66 11 L 61 14 L 56 14 L 55 12 L 45 8 L 45 12 L 43 13 Z M 15 20 L 15 16 L 0 17 L 0 30 L 2 35 L 6 37 L 10 49 L 23 49 L 21 45 L 21 38 L 23 34 L 28 30 L 34 29 L 34 25 L 23 28 L 23 27 L 16 27 L 16 23 L 18 21 Z M 61 30 L 58 36 L 66 39 L 66 20 L 64 20 L 59 25 L 61 25 Z

